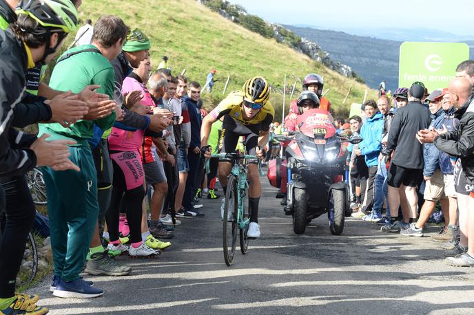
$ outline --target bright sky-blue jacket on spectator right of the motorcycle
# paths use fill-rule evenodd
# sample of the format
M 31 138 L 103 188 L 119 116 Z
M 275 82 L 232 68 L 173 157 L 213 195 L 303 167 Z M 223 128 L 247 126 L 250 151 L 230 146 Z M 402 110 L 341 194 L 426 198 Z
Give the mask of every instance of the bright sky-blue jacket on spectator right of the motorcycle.
M 372 118 L 367 118 L 360 129 L 362 142 L 359 149 L 362 155 L 365 155 L 365 164 L 367 166 L 378 165 L 378 155 L 382 150 L 382 131 L 384 129 L 384 116 L 380 111 Z

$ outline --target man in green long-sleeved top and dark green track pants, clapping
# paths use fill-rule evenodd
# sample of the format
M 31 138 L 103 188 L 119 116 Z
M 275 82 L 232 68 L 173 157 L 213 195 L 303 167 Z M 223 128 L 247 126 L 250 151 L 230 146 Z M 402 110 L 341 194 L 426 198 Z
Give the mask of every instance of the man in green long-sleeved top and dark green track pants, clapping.
M 91 45 L 75 47 L 59 58 L 50 87 L 78 93 L 87 85 L 101 85 L 97 92 L 113 98 L 114 69 L 110 61 L 122 51 L 128 30 L 118 17 L 101 17 L 96 22 Z M 94 123 L 105 130 L 112 127 L 115 119 L 116 112 L 113 111 L 105 118 L 79 120 L 67 128 L 61 124 L 40 124 L 40 135 L 48 133 L 52 140 L 77 142 L 76 146 L 70 146 L 70 160 L 81 168 L 79 172 L 43 168 L 57 280 L 53 280 L 52 285 L 56 285 L 55 296 L 89 298 L 103 294 L 103 290 L 96 294 L 77 292 L 71 283 L 79 279 L 99 214 L 96 169 L 87 140 L 93 136 Z

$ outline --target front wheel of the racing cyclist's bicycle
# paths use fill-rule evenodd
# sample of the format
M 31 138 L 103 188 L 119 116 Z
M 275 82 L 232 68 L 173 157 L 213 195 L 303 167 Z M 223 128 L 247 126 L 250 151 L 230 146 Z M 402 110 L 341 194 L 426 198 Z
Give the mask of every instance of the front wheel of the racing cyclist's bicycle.
M 237 243 L 237 213 L 238 213 L 238 187 L 236 177 L 230 176 L 225 193 L 223 213 L 223 248 L 226 265 L 232 264 Z

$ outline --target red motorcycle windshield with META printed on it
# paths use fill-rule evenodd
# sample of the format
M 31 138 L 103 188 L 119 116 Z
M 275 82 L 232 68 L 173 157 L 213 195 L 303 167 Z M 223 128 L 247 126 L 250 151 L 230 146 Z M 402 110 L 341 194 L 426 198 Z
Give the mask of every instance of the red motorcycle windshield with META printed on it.
M 329 111 L 324 109 L 309 109 L 297 120 L 299 130 L 310 138 L 320 135 L 321 138 L 329 139 L 336 135 L 336 128 L 329 119 Z

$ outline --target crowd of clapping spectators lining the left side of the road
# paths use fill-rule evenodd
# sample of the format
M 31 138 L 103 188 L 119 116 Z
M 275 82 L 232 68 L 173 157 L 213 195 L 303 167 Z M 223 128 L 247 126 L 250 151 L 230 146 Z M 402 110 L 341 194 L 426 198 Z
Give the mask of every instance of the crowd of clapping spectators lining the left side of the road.
M 152 72 L 141 30 L 112 15 L 87 21 L 49 84 L 40 80 L 77 30 L 81 2 L 0 1 L 2 314 L 48 312 L 39 296 L 15 293 L 35 216 L 25 173 L 35 166 L 48 194 L 50 291 L 62 298 L 101 296 L 81 272 L 130 274 L 114 257 L 158 257 L 181 219 L 204 217 L 196 196 L 220 197 L 217 164 L 200 156 L 201 85 L 168 67 Z M 38 135 L 15 129 L 33 123 Z

